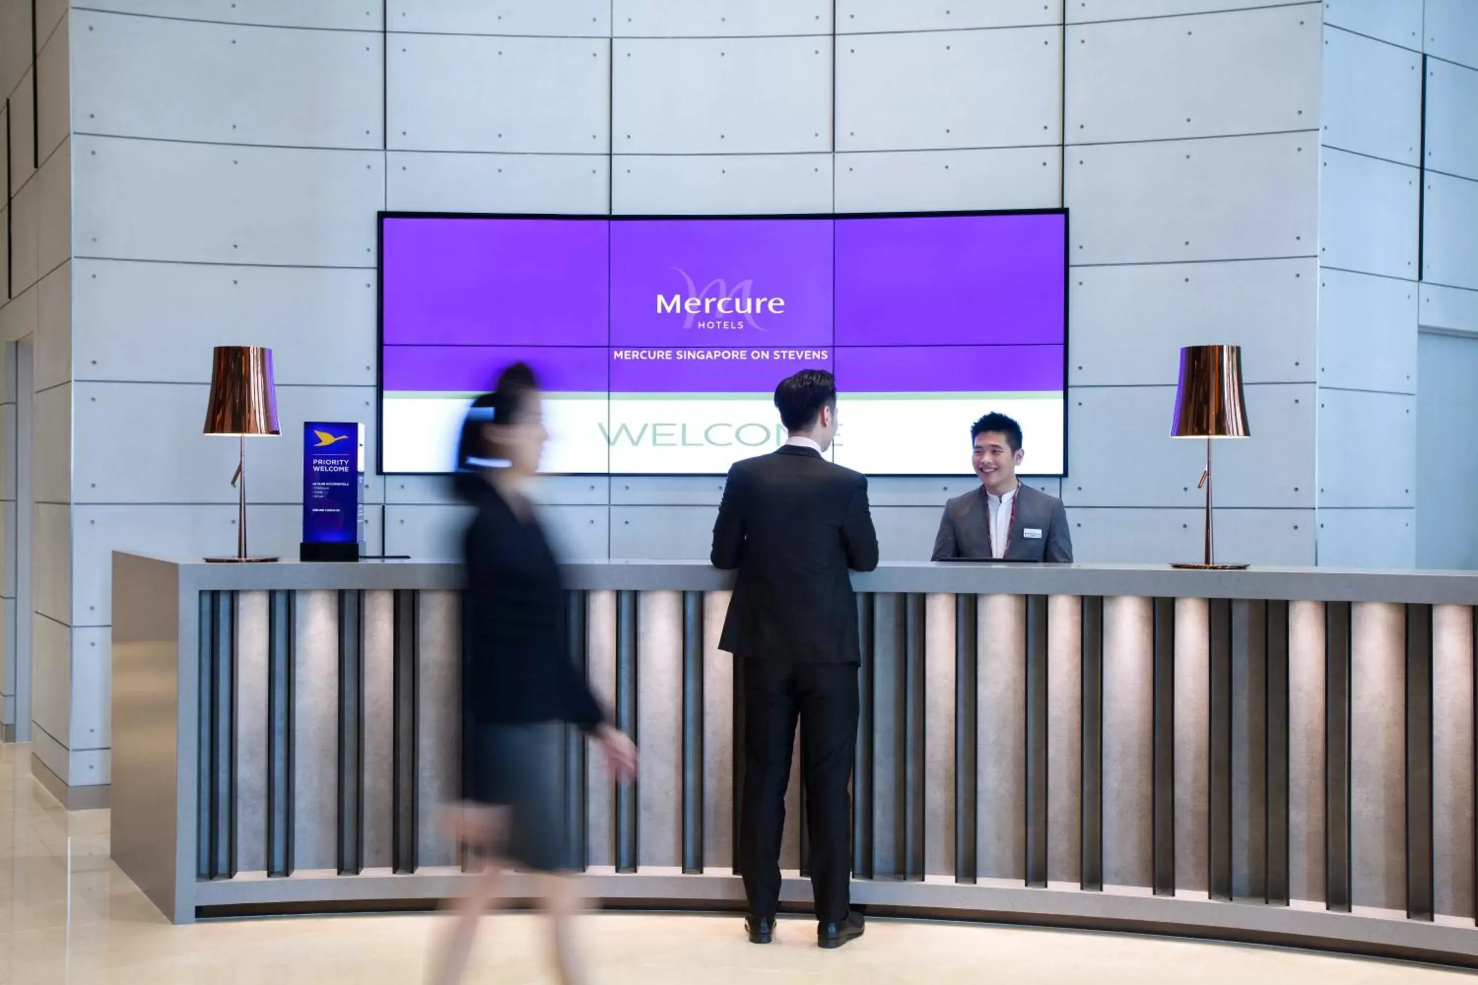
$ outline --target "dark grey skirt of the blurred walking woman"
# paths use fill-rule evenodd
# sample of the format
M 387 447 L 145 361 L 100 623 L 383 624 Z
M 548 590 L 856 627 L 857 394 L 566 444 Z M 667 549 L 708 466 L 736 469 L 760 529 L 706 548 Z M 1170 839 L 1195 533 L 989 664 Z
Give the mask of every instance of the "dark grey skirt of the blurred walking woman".
M 466 797 L 507 806 L 507 842 L 498 855 L 522 868 L 575 868 L 565 811 L 565 722 L 471 725 L 466 744 Z

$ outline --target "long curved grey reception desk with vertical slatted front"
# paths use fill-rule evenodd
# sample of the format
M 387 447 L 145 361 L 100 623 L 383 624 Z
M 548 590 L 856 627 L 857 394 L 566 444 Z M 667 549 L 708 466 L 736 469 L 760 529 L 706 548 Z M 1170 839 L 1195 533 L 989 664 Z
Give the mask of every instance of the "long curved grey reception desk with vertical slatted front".
M 729 576 L 566 574 L 575 660 L 641 747 L 618 786 L 566 743 L 590 893 L 740 908 Z M 112 857 L 170 919 L 458 892 L 436 826 L 458 789 L 458 579 L 114 555 Z M 885 564 L 854 583 L 856 901 L 1478 966 L 1478 576 Z M 798 786 L 783 899 L 804 908 Z

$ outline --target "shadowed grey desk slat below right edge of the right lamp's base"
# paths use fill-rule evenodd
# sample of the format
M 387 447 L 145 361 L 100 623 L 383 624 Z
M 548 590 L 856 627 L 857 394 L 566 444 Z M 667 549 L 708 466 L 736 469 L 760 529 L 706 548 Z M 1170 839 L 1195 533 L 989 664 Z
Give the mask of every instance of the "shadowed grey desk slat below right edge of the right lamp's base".
M 1231 607 L 1231 895 L 1267 898 L 1267 604 Z

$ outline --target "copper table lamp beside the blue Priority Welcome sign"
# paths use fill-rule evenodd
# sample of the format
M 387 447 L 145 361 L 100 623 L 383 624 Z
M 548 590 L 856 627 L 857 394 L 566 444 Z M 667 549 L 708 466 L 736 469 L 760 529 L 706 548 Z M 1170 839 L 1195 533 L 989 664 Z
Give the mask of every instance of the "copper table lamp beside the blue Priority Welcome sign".
M 205 434 L 223 434 L 241 442 L 241 456 L 231 484 L 236 487 L 236 557 L 205 558 L 222 564 L 276 561 L 247 554 L 247 439 L 276 437 L 276 391 L 272 384 L 272 350 L 259 346 L 216 346 L 210 372 L 210 406 Z

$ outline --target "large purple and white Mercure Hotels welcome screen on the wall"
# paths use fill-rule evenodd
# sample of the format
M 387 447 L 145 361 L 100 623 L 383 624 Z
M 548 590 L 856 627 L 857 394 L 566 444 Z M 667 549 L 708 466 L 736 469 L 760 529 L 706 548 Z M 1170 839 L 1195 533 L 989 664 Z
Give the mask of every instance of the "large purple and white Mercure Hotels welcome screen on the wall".
M 774 385 L 837 375 L 831 456 L 970 471 L 970 424 L 1064 471 L 1067 216 L 381 216 L 381 471 L 448 473 L 525 360 L 553 473 L 721 474 L 785 442 Z

